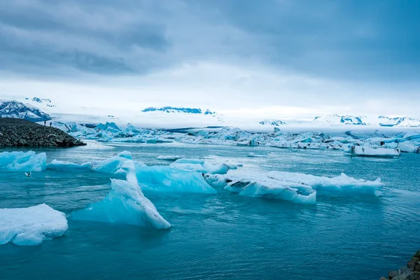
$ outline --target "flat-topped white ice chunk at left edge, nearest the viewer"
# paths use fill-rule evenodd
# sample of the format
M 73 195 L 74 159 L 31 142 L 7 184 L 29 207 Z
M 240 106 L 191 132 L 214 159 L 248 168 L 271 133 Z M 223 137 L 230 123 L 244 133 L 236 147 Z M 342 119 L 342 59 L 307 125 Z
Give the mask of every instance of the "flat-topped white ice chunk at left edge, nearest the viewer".
M 66 215 L 46 204 L 0 209 L 0 245 L 38 245 L 61 237 L 68 228 Z

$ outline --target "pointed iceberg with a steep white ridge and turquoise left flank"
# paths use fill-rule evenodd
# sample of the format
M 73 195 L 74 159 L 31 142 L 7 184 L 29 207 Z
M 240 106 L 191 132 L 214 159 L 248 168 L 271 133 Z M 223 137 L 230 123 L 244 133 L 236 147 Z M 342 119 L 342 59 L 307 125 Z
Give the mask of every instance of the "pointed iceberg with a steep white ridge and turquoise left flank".
M 111 191 L 104 200 L 73 211 L 71 218 L 156 229 L 170 228 L 171 225 L 160 216 L 155 205 L 141 191 L 137 183 L 135 162 L 127 160 L 121 168 L 126 171 L 126 180 L 111 179 Z

